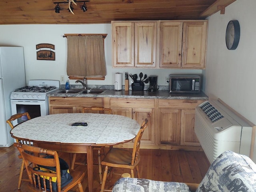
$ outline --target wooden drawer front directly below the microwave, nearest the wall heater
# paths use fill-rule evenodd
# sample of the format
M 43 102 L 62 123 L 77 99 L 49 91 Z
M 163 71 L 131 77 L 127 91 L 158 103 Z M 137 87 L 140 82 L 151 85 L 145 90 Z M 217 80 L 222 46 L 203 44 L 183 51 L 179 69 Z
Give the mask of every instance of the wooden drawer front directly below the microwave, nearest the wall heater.
M 204 101 L 205 100 L 158 99 L 158 108 L 195 109 L 196 106 Z

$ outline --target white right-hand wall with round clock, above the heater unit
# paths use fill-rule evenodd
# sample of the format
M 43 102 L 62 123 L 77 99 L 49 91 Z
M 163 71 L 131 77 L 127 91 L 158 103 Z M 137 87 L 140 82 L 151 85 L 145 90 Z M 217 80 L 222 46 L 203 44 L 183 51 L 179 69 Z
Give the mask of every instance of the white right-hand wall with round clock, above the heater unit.
M 237 0 L 210 16 L 204 92 L 220 98 L 256 124 L 256 1 Z M 240 42 L 236 50 L 226 48 L 226 26 L 240 23 Z

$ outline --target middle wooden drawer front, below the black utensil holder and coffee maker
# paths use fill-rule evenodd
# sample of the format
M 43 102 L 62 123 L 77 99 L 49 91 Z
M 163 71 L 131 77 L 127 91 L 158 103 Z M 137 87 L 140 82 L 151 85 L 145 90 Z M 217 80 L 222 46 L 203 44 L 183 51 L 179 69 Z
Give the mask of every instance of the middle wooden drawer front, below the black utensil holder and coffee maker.
M 127 99 L 127 98 L 110 98 L 111 107 L 136 107 L 136 108 L 154 108 L 154 99 Z

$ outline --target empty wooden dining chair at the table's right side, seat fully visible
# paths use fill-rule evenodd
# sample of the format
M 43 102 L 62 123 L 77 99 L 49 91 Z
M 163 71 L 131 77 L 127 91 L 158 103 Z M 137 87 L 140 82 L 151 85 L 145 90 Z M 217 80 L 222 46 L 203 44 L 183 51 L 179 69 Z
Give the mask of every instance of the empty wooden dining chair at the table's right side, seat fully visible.
M 114 174 L 113 173 L 114 168 L 130 169 L 132 178 L 135 177 L 134 168 L 136 168 L 137 178 L 140 178 L 140 172 L 138 168 L 138 163 L 140 162 L 140 139 L 142 138 L 144 130 L 146 129 L 147 126 L 148 126 L 148 119 L 145 119 L 142 122 L 142 125 L 140 127 L 140 130 L 137 136 L 134 139 L 134 145 L 133 145 L 132 151 L 122 149 L 122 148 L 111 148 L 109 152 L 106 154 L 106 156 L 101 162 L 101 164 L 105 166 L 105 169 L 104 169 L 100 192 L 112 191 L 112 190 L 104 189 L 109 168 L 112 168 L 110 172 L 110 179 L 111 179 L 111 175 Z M 122 174 L 118 174 L 118 175 L 121 176 Z

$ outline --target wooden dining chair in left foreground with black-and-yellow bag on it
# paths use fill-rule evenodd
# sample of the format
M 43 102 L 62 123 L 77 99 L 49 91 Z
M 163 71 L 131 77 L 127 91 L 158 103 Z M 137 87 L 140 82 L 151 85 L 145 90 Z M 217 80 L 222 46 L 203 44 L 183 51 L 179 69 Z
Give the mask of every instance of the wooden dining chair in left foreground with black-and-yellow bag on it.
M 72 171 L 70 170 L 70 175 L 73 180 L 65 186 L 61 186 L 61 170 L 60 170 L 60 160 L 58 157 L 58 153 L 54 150 L 47 150 L 39 147 L 28 146 L 24 144 L 14 143 L 22 155 L 26 171 L 28 173 L 28 178 L 30 184 L 35 188 L 43 188 L 46 191 L 46 178 L 49 180 L 49 188 L 52 192 L 52 180 L 55 177 L 58 187 L 58 192 L 67 192 L 74 186 L 78 186 L 79 192 L 84 192 L 82 186 L 82 180 L 84 178 L 84 172 L 82 171 Z M 38 154 L 45 154 L 53 156 L 53 158 L 44 158 L 38 156 Z M 38 170 L 38 166 L 40 167 L 54 167 L 55 171 L 42 171 Z M 36 179 L 36 175 L 37 178 Z M 40 183 L 40 177 L 42 177 L 43 184 Z M 42 186 L 43 185 L 43 186 Z

